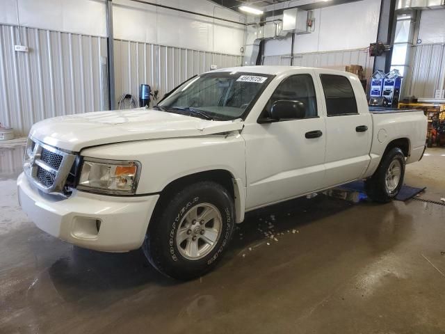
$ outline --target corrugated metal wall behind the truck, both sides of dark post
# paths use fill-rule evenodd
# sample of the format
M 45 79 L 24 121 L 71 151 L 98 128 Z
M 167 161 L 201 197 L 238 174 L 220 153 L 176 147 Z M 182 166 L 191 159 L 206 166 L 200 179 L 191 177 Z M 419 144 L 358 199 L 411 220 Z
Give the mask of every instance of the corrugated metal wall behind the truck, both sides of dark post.
M 39 120 L 108 108 L 106 38 L 0 25 L 0 122 L 26 136 Z M 212 61 L 213 56 L 213 61 Z M 240 56 L 115 40 L 116 98 L 138 97 L 140 84 L 159 97 L 194 74 L 241 64 Z

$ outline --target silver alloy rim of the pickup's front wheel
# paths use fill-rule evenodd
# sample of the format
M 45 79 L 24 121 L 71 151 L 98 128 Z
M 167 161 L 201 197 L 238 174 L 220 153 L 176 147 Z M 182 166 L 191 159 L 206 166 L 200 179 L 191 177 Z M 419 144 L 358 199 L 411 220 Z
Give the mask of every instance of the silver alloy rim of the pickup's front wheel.
M 197 204 L 184 214 L 176 233 L 176 246 L 188 260 L 208 255 L 220 238 L 223 218 L 210 203 Z

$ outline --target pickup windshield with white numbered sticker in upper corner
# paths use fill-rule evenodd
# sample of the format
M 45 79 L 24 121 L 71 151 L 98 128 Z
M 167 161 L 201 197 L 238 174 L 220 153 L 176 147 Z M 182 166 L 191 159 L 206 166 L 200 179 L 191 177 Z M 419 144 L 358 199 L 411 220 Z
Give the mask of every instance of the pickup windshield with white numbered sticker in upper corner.
M 177 88 L 158 104 L 164 111 L 202 118 L 236 119 L 250 109 L 272 76 L 245 72 L 202 74 Z

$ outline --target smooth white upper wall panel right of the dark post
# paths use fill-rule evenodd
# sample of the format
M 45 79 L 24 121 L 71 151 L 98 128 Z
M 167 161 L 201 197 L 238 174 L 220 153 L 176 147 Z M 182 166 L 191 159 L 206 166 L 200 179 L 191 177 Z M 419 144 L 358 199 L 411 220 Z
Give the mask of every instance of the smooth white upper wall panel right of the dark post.
M 203 0 L 158 0 L 164 6 L 193 10 L 244 23 L 245 15 Z M 219 19 L 181 13 L 128 0 L 113 0 L 113 35 L 153 45 L 169 45 L 223 54 L 241 55 L 245 26 Z

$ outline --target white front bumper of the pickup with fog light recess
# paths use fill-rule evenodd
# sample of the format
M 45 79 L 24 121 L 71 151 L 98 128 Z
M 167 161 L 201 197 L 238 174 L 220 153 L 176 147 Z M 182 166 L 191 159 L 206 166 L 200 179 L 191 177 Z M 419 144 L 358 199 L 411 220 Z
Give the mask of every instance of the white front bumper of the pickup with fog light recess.
M 24 173 L 17 179 L 23 211 L 44 232 L 83 248 L 126 252 L 144 241 L 159 195 L 116 197 L 74 191 L 70 198 L 42 193 Z

